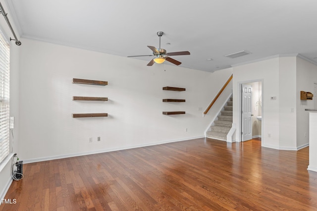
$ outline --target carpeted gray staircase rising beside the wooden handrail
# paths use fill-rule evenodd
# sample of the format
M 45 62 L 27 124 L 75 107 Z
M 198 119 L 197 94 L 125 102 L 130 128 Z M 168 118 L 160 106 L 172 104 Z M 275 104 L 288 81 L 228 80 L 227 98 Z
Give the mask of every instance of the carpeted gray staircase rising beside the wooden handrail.
M 227 134 L 232 126 L 232 96 L 220 113 L 211 130 L 207 132 L 207 138 L 227 141 Z

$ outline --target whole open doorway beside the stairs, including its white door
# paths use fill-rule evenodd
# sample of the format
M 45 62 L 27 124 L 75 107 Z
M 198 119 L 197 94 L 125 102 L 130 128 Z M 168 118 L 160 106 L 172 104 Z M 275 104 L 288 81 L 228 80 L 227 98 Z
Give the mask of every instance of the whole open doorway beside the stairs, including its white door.
M 263 131 L 263 103 L 262 81 L 244 82 L 240 84 L 240 140 L 262 140 Z M 263 143 L 262 143 L 263 145 Z

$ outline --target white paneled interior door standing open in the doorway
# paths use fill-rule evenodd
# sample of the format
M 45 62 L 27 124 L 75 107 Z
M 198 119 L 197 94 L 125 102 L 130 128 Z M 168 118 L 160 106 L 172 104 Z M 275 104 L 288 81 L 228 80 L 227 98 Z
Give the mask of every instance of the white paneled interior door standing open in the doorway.
M 242 84 L 242 141 L 252 139 L 252 87 Z

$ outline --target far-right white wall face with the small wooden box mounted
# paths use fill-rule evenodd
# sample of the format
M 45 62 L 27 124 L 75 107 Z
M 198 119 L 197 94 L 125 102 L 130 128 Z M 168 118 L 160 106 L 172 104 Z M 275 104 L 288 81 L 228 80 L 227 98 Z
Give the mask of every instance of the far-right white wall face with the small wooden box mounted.
M 297 114 L 297 146 L 307 146 L 309 143 L 309 112 L 306 108 L 314 108 L 314 101 L 301 101 L 301 91 L 314 93 L 314 83 L 317 83 L 317 66 L 300 57 L 296 59 L 296 114 Z M 314 96 L 317 98 L 317 96 Z

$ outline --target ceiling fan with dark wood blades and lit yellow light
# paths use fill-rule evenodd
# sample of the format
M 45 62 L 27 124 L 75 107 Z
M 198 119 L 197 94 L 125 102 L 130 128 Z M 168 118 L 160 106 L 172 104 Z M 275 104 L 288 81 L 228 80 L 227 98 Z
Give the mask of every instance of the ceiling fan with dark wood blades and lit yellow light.
M 159 36 L 159 48 L 155 48 L 153 46 L 148 46 L 152 51 L 153 51 L 153 54 L 152 55 L 130 55 L 128 57 L 136 57 L 136 56 L 156 56 L 154 59 L 152 59 L 147 65 L 148 66 L 152 66 L 154 64 L 154 62 L 160 64 L 160 63 L 163 63 L 165 60 L 166 61 L 169 61 L 173 64 L 176 64 L 176 65 L 180 65 L 182 62 L 180 61 L 177 61 L 169 56 L 171 55 L 190 55 L 189 52 L 171 52 L 171 53 L 166 53 L 166 50 L 165 49 L 161 49 L 160 48 L 160 37 L 164 34 L 163 32 L 158 32 L 157 33 L 158 36 Z

